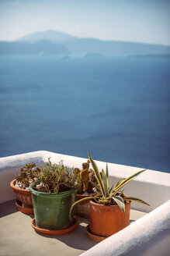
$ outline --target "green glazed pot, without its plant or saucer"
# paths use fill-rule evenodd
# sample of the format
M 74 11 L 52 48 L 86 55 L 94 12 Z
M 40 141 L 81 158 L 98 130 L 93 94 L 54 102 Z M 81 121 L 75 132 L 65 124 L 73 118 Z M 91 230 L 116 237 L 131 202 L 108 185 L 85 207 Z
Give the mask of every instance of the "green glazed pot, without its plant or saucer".
M 75 203 L 76 189 L 61 193 L 43 193 L 33 189 L 39 183 L 36 181 L 29 186 L 36 226 L 50 230 L 61 230 L 71 226 L 73 221 L 69 219 L 69 211 L 71 205 Z

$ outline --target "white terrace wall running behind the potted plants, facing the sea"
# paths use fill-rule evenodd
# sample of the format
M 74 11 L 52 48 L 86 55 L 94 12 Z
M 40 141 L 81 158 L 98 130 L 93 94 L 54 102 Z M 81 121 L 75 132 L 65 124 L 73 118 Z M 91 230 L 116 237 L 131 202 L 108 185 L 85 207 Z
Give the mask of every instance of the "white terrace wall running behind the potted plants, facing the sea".
M 77 158 L 70 155 L 61 155 L 50 151 L 35 151 L 22 155 L 13 155 L 0 158 L 0 203 L 10 201 L 15 198 L 12 189 L 9 187 L 11 180 L 19 173 L 19 168 L 28 162 L 35 162 L 37 166 L 42 166 L 50 158 L 52 163 L 58 163 L 63 160 L 64 165 L 70 167 L 82 168 L 82 162 L 86 162 L 85 158 Z M 106 162 L 96 161 L 99 169 L 106 169 Z M 109 186 L 116 183 L 117 180 L 126 178 L 141 170 L 141 168 L 116 165 L 108 163 L 109 167 Z M 141 173 L 135 180 L 126 185 L 125 194 L 129 196 L 139 197 L 147 201 L 151 206 L 133 203 L 132 208 L 141 212 L 151 212 L 170 198 L 170 174 L 165 172 L 157 172 L 147 170 Z

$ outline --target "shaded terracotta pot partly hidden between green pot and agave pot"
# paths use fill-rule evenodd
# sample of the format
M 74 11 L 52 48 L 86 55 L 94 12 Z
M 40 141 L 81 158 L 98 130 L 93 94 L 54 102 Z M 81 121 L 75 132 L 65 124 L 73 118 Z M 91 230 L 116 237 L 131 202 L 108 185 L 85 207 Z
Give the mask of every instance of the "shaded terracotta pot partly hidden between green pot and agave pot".
M 76 201 L 82 198 L 87 198 L 87 197 L 92 197 L 92 194 L 89 194 L 89 195 L 76 194 Z M 89 200 L 85 200 L 85 201 L 82 201 L 81 203 L 78 203 L 76 205 L 75 212 L 78 216 L 89 218 Z

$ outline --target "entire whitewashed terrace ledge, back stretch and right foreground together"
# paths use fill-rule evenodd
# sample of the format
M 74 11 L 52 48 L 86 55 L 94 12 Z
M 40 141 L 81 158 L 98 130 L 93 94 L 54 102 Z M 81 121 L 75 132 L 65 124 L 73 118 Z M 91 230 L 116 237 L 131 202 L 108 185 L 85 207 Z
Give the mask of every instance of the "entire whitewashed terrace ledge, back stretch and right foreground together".
M 0 203 L 15 198 L 9 183 L 19 173 L 19 168 L 28 162 L 41 166 L 50 157 L 51 162 L 63 160 L 64 165 L 82 167 L 85 158 L 60 155 L 50 151 L 36 151 L 22 155 L 0 158 Z M 96 161 L 99 169 L 105 169 L 106 163 Z M 109 186 L 121 178 L 126 178 L 141 168 L 108 163 Z M 168 256 L 170 251 L 170 174 L 147 170 L 141 176 L 127 184 L 125 194 L 140 197 L 150 204 L 132 203 L 132 209 L 146 212 L 141 219 L 95 245 L 82 256 Z

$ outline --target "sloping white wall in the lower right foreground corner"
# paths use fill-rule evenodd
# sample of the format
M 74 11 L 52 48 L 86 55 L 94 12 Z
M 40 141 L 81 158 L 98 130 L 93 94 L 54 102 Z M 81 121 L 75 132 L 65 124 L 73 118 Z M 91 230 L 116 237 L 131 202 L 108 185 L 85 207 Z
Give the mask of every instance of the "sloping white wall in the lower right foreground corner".
M 169 256 L 170 201 L 81 256 Z

